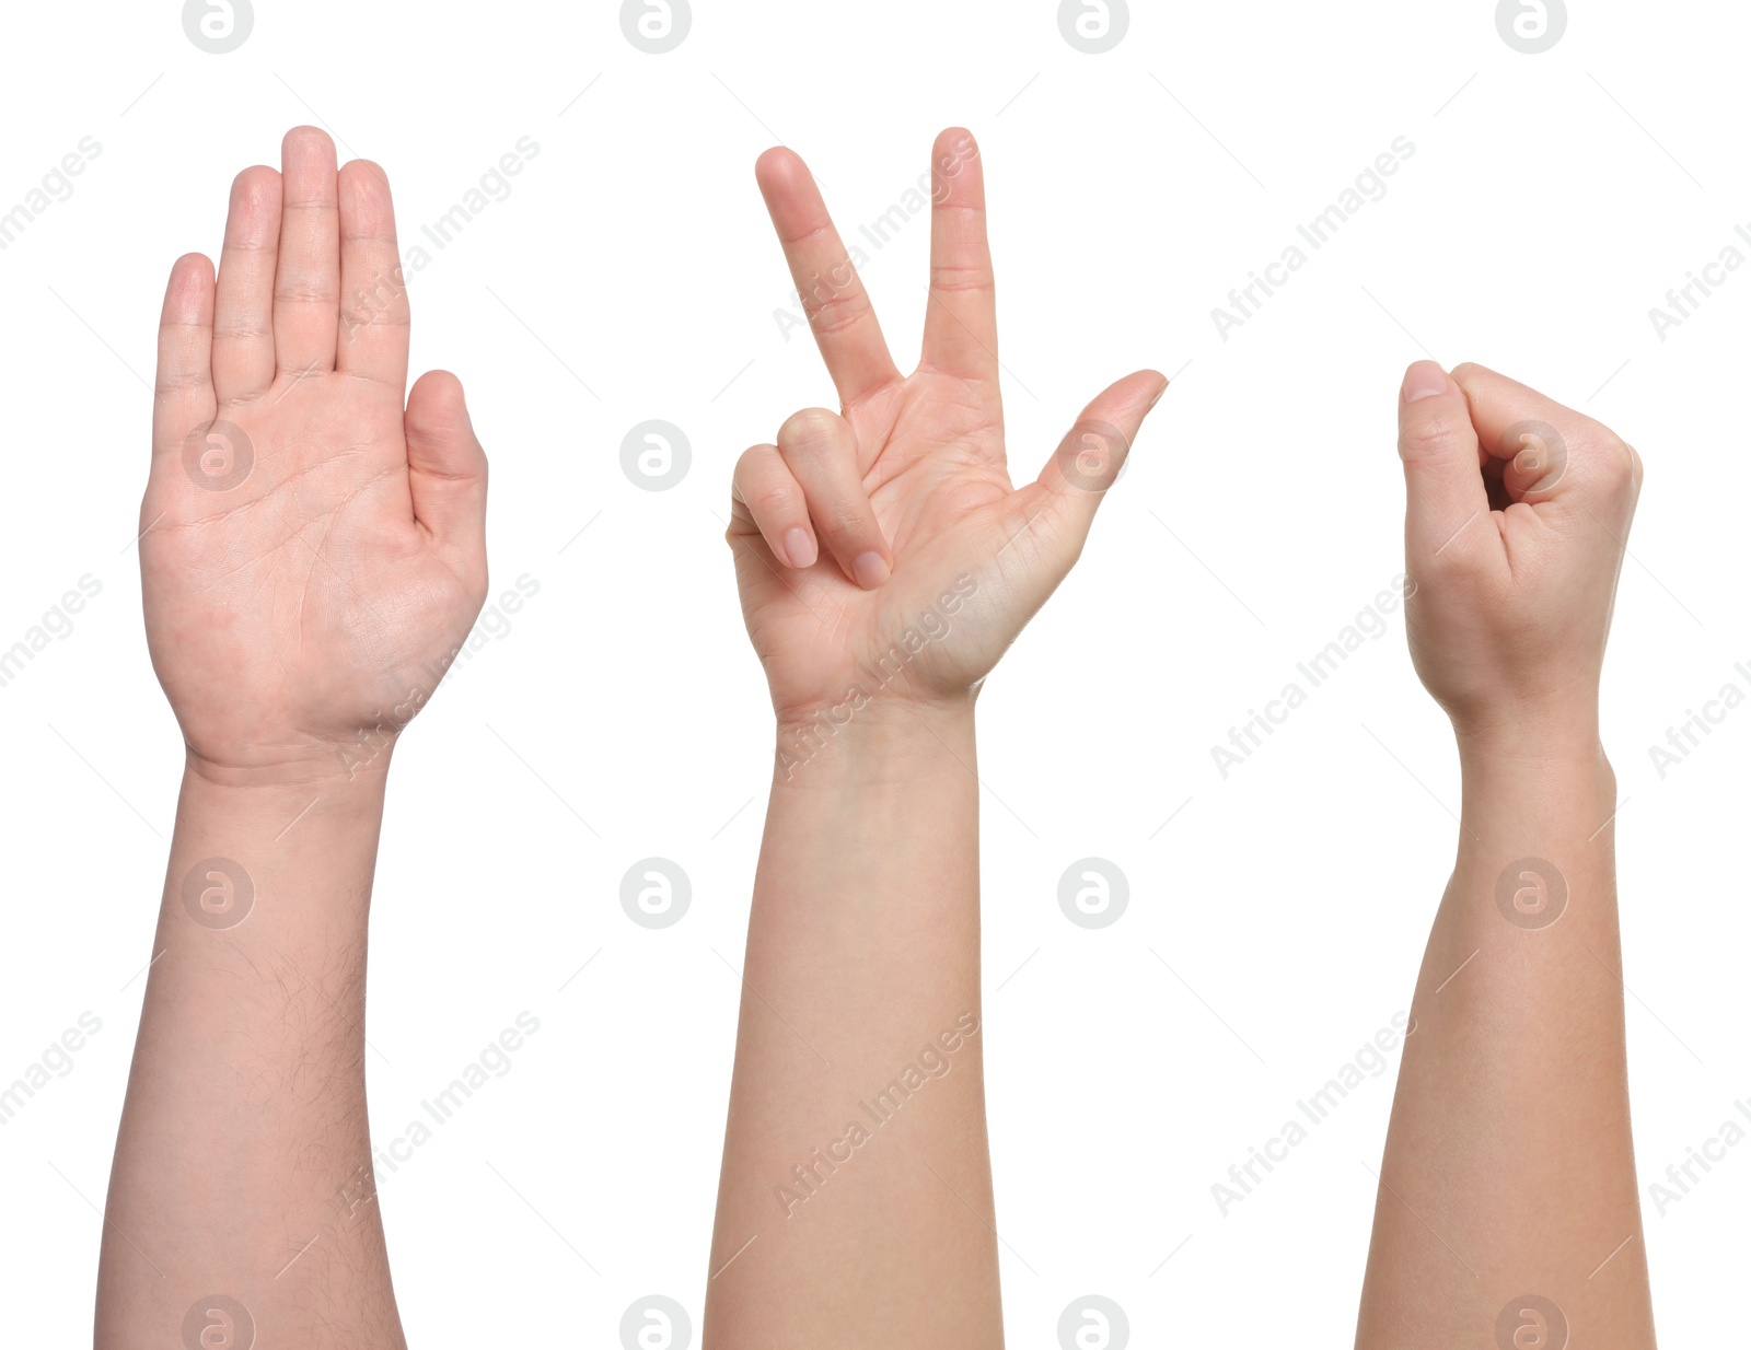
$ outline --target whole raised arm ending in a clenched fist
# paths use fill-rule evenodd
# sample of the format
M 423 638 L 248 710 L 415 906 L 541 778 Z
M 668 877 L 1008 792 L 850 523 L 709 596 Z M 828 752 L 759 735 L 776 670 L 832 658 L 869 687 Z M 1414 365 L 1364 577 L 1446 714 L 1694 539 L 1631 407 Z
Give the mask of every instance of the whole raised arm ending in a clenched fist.
M 1599 739 L 1641 459 L 1525 385 L 1429 361 L 1404 378 L 1399 452 L 1411 655 L 1464 804 L 1355 1343 L 1649 1350 Z

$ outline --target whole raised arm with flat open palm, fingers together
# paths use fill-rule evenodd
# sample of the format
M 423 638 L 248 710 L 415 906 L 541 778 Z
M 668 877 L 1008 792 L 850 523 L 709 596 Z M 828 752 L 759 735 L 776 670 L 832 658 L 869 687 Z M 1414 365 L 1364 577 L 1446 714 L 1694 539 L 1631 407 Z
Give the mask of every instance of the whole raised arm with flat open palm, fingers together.
M 383 172 L 315 128 L 238 175 L 217 278 L 177 261 L 158 350 L 140 567 L 184 777 L 96 1345 L 403 1346 L 366 918 L 396 735 L 487 592 L 487 461 L 455 376 L 406 390 Z

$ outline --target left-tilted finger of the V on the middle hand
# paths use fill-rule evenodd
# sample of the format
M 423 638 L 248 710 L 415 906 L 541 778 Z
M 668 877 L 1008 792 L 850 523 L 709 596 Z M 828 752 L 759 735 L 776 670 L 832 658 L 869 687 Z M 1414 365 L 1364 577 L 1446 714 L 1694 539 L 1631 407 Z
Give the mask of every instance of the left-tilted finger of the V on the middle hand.
M 762 154 L 755 180 L 784 247 L 814 345 L 821 348 L 839 399 L 849 408 L 900 378 L 868 292 L 833 229 L 814 175 L 795 151 L 776 147 Z

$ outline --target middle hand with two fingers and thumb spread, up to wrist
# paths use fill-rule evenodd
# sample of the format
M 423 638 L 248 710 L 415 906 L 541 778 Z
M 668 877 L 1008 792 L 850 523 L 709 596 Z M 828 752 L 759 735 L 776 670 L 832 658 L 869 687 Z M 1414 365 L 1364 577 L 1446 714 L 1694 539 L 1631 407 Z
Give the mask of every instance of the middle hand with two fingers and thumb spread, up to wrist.
M 728 541 L 781 725 L 870 700 L 970 702 L 1075 564 L 1166 389 L 1154 371 L 1112 385 L 1038 482 L 1010 487 L 972 135 L 944 131 L 932 168 L 930 301 L 911 376 L 802 159 L 774 149 L 755 170 L 842 404 L 797 413 L 735 468 Z

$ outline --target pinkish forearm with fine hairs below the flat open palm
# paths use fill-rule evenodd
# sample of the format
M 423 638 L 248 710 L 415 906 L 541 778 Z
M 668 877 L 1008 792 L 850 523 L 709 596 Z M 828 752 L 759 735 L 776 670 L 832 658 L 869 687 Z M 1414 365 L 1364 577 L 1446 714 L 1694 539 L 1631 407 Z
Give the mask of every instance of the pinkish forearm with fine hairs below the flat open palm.
M 186 1318 L 228 1315 L 263 1345 L 403 1345 L 364 1107 L 385 767 L 294 786 L 184 776 L 110 1177 L 100 1350 L 180 1345 Z

